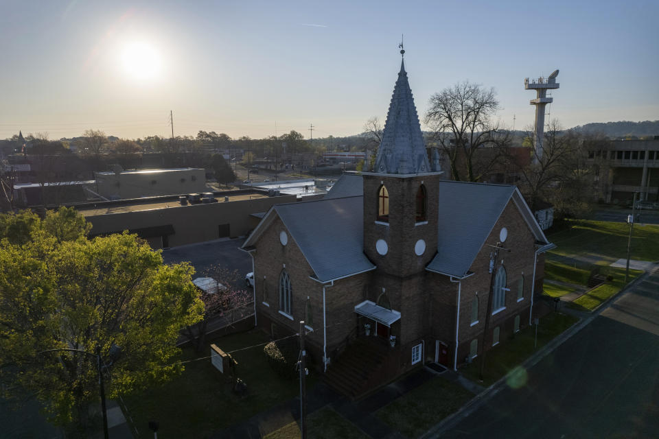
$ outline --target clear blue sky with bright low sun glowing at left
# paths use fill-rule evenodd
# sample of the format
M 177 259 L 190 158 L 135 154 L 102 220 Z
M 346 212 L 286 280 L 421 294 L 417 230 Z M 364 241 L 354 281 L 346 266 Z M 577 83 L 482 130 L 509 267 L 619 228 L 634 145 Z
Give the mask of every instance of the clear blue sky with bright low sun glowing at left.
M 358 134 L 400 69 L 433 93 L 494 87 L 533 123 L 524 78 L 560 73 L 550 119 L 659 119 L 659 2 L 0 0 L 0 139 L 199 130 L 254 139 Z M 659 133 L 658 133 L 659 134 Z

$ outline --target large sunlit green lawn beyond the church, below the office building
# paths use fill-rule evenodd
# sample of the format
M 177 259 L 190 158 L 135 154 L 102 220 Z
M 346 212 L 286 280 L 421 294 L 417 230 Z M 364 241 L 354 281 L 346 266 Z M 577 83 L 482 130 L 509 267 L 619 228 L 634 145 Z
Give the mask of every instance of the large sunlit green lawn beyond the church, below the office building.
M 553 233 L 548 238 L 557 245 L 552 254 L 573 256 L 589 254 L 599 259 L 619 259 L 627 256 L 629 226 L 623 222 L 570 220 L 572 227 Z M 659 226 L 634 225 L 632 259 L 659 260 Z

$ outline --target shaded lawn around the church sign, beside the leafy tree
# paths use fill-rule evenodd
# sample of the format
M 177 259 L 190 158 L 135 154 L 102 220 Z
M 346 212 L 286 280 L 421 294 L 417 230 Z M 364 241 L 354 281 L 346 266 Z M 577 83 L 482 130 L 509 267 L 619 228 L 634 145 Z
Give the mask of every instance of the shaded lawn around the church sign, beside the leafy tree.
M 207 346 L 215 343 L 229 352 L 267 341 L 266 335 L 255 330 L 227 335 Z M 207 357 L 209 351 L 207 348 L 196 353 L 186 348 L 181 360 Z M 124 398 L 139 437 L 151 438 L 148 421 L 157 420 L 163 437 L 205 438 L 297 396 L 298 381 L 279 378 L 268 366 L 263 346 L 238 351 L 232 356 L 238 361 L 238 376 L 248 386 L 246 396 L 231 392 L 228 377 L 216 370 L 210 359 L 192 361 L 185 364 L 185 371 L 172 381 Z M 313 382 L 310 376 L 308 388 L 312 388 Z

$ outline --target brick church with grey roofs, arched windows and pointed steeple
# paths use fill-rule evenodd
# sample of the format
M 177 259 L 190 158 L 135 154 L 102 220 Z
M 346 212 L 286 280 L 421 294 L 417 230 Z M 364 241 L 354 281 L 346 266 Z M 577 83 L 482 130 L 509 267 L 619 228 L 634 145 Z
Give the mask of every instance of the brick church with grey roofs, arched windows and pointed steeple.
M 533 322 L 553 244 L 516 187 L 441 174 L 402 62 L 374 171 L 273 206 L 244 243 L 257 325 L 282 337 L 304 320 L 349 396 L 428 361 L 458 368 Z

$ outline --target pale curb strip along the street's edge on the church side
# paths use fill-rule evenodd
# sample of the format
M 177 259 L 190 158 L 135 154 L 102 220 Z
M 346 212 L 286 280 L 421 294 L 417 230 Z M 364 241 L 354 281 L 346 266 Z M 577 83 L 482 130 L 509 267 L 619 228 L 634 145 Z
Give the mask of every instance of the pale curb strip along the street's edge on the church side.
M 591 311 L 590 316 L 586 318 L 581 318 L 578 322 L 573 324 L 572 327 L 564 331 L 561 335 L 556 337 L 554 340 L 551 340 L 551 342 L 548 342 L 546 345 L 542 346 L 539 351 L 537 351 L 535 354 L 531 355 L 531 357 L 527 358 L 522 364 L 520 364 L 518 367 L 522 367 L 524 369 L 529 369 L 535 364 L 539 363 L 540 360 L 542 360 L 546 355 L 550 354 L 552 351 L 554 351 L 558 346 L 566 342 L 567 340 L 570 339 L 573 335 L 581 331 L 584 327 L 586 327 L 594 318 L 597 318 L 599 314 L 602 311 L 605 311 L 607 309 L 612 301 L 621 296 L 621 294 L 624 294 L 627 292 L 627 290 L 631 287 L 634 287 L 637 283 L 641 281 L 645 281 L 645 279 L 650 275 L 653 274 L 654 272 L 659 270 L 659 266 L 655 267 L 652 270 L 649 270 L 648 272 L 645 272 L 644 274 L 641 274 L 638 276 L 638 278 L 634 279 L 634 281 L 628 283 L 623 287 L 618 293 L 614 294 L 605 302 L 603 302 L 599 307 Z M 496 381 L 494 384 L 490 385 L 487 389 L 483 390 L 480 394 L 477 394 L 472 398 L 469 402 L 467 402 L 465 405 L 463 405 L 460 410 L 455 412 L 454 414 L 451 414 L 447 416 L 446 418 L 443 418 L 437 425 L 434 427 L 431 427 L 426 431 L 426 433 L 422 434 L 419 436 L 421 439 L 426 439 L 426 438 L 438 438 L 441 436 L 441 434 L 445 433 L 448 429 L 451 429 L 455 425 L 461 422 L 463 418 L 466 418 L 473 412 L 475 412 L 481 405 L 485 402 L 487 402 L 489 399 L 491 399 L 494 395 L 496 395 L 500 390 L 502 390 L 503 386 L 505 385 L 507 378 L 509 374 L 504 375 L 498 381 Z

